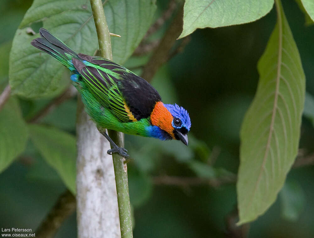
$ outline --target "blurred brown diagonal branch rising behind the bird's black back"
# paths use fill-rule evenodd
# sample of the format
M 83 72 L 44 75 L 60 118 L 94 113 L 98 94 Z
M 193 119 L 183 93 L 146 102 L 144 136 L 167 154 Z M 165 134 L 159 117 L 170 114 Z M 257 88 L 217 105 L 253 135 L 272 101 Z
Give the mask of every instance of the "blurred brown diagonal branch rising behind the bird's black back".
M 148 82 L 153 78 L 157 70 L 162 64 L 164 64 L 169 58 L 169 51 L 179 37 L 183 26 L 183 6 L 181 6 L 175 19 L 167 29 L 164 37 L 160 41 L 159 46 L 154 51 L 154 54 L 149 59 L 141 77 L 146 79 Z

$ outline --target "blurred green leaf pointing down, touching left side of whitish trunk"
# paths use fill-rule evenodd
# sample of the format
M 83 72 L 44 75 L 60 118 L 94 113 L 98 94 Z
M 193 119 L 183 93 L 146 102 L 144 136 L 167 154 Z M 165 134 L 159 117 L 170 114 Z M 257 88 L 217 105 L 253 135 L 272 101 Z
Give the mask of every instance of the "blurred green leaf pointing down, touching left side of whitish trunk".
M 59 173 L 65 185 L 76 193 L 76 139 L 56 128 L 30 124 L 30 137 L 43 158 Z

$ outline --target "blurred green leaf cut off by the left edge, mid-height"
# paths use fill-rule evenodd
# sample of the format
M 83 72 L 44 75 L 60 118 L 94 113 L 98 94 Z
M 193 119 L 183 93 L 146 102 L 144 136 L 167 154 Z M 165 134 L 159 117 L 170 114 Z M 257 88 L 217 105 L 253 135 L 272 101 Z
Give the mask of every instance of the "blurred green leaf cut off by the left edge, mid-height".
M 0 172 L 24 151 L 27 138 L 19 103 L 11 96 L 0 111 Z

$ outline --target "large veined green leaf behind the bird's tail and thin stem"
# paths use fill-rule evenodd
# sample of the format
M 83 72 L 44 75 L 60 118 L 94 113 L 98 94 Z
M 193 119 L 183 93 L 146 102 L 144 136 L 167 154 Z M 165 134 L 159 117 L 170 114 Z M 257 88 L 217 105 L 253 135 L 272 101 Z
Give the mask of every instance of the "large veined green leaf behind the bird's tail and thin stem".
M 113 59 L 124 62 L 148 29 L 156 6 L 150 0 L 105 1 Z M 29 26 L 42 22 L 74 51 L 92 55 L 98 49 L 97 34 L 88 0 L 35 0 L 17 30 L 10 54 L 10 85 L 13 92 L 28 98 L 56 95 L 69 80 L 62 80 L 65 67 L 30 45 L 38 34 L 28 34 Z

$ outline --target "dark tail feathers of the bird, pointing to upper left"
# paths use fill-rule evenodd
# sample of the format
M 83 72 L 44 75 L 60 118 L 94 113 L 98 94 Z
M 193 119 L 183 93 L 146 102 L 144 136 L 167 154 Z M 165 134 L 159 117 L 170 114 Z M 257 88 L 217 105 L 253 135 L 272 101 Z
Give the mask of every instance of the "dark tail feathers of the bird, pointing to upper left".
M 32 40 L 30 44 L 56 58 L 71 71 L 75 70 L 71 60 L 78 58 L 78 55 L 48 30 L 41 28 L 39 34 L 42 37 Z

